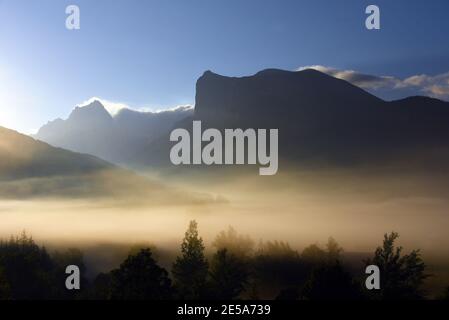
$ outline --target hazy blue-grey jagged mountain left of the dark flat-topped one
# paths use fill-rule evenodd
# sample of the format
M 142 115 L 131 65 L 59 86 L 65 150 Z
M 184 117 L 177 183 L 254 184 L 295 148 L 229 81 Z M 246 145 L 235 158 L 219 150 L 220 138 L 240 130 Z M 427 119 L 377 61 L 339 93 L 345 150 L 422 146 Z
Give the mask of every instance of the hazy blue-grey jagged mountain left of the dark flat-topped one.
M 67 120 L 44 125 L 35 138 L 53 146 L 88 153 L 116 164 L 126 164 L 143 146 L 191 115 L 188 107 L 164 112 L 122 109 L 112 117 L 95 100 L 76 107 Z

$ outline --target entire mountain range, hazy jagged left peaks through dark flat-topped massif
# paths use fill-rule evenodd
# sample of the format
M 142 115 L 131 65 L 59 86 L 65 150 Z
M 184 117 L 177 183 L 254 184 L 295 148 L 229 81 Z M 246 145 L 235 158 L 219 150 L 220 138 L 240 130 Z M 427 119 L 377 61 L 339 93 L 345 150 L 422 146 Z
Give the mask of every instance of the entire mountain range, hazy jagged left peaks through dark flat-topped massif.
M 192 120 L 204 128 L 278 128 L 280 156 L 295 163 L 375 163 L 435 150 L 446 156 L 449 141 L 448 102 L 387 102 L 312 69 L 241 78 L 207 71 L 197 81 L 194 112 L 123 110 L 111 117 L 94 102 L 45 125 L 36 137 L 133 167 L 167 166 L 169 132 L 190 128 Z

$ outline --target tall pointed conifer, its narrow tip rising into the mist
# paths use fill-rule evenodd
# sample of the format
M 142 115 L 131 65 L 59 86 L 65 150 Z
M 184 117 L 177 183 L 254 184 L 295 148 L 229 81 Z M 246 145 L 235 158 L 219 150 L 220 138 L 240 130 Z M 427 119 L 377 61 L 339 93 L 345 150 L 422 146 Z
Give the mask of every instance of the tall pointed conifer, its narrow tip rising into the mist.
M 175 288 L 182 299 L 198 299 L 205 289 L 208 263 L 204 256 L 203 239 L 198 235 L 198 224 L 190 222 L 181 245 L 181 257 L 173 264 Z

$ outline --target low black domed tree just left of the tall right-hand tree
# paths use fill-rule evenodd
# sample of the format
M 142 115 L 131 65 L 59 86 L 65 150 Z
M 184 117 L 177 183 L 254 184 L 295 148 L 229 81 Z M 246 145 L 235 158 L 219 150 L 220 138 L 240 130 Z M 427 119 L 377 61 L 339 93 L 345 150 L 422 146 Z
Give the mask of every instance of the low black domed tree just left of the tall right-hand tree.
M 357 300 L 362 298 L 358 285 L 339 262 L 314 269 L 304 285 L 305 300 Z

